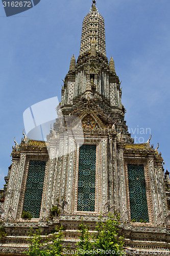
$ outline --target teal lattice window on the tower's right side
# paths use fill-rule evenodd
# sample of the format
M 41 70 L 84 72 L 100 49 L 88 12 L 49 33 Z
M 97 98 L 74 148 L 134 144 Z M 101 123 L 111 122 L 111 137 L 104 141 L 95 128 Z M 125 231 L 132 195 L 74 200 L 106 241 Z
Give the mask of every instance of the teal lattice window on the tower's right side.
M 143 164 L 128 164 L 131 220 L 149 222 Z

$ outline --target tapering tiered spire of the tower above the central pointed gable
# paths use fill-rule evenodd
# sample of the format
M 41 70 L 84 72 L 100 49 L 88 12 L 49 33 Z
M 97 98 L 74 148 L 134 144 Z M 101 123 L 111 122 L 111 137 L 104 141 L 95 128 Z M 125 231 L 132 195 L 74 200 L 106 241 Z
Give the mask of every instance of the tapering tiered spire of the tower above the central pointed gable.
M 108 63 L 106 57 L 104 18 L 96 11 L 93 0 L 91 11 L 83 20 L 80 55 L 77 62 L 72 56 L 65 77 L 60 107 L 66 116 L 81 116 L 91 109 L 98 113 L 101 123 L 108 129 L 117 120 L 115 129 L 119 137 L 124 135 L 128 143 L 133 143 L 124 121 L 125 108 L 121 99 L 122 90 L 115 73 L 114 60 L 111 57 Z

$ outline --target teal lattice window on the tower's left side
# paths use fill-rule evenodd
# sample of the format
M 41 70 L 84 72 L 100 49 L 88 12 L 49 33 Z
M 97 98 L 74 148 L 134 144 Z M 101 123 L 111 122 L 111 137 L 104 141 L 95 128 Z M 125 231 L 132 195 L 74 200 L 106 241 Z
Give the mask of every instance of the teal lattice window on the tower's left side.
M 45 175 L 45 161 L 30 161 L 23 210 L 39 218 Z

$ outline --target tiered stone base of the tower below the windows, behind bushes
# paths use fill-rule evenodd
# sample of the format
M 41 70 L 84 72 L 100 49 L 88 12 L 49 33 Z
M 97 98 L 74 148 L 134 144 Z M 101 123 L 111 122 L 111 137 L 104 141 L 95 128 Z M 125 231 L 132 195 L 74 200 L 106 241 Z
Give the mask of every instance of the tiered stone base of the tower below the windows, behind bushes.
M 92 215 L 61 215 L 54 218 L 53 221 L 16 221 L 6 222 L 5 228 L 8 236 L 0 245 L 0 255 L 24 255 L 29 248 L 28 232 L 33 229 L 41 228 L 42 240 L 45 239 L 45 233 L 54 231 L 56 225 L 63 225 L 63 246 L 70 248 L 68 251 L 76 250 L 76 243 L 79 240 L 79 224 L 81 219 L 88 224 L 89 231 L 94 232 L 95 223 L 98 217 Z M 106 220 L 107 217 L 104 217 Z M 120 223 L 119 233 L 125 237 L 124 250 L 127 255 L 170 255 L 170 228 L 155 227 L 151 224 L 125 224 Z M 50 235 L 48 235 L 50 236 Z

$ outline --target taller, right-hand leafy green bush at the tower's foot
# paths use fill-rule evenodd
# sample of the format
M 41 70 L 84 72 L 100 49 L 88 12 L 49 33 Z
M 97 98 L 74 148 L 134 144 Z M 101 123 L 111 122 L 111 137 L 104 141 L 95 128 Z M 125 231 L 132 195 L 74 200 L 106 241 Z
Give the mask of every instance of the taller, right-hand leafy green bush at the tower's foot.
M 111 251 L 110 254 L 123 255 L 124 238 L 118 235 L 118 217 L 109 215 L 106 222 L 100 221 L 96 223 L 96 232 L 93 236 L 90 236 L 88 227 L 82 223 L 80 225 L 81 237 L 78 242 L 77 250 L 81 252 L 81 255 L 103 255 L 103 251 Z M 102 251 L 103 250 L 103 251 Z

